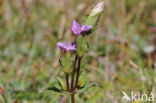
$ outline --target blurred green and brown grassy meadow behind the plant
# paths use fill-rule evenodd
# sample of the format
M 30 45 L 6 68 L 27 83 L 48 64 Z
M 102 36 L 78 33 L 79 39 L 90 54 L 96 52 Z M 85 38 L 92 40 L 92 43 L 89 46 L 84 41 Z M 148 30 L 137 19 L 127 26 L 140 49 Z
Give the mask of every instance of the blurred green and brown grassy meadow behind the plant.
M 0 86 L 9 103 L 69 103 L 68 96 L 40 93 L 63 75 L 56 43 L 73 40 L 72 20 L 82 21 L 99 1 L 0 0 Z M 156 93 L 156 1 L 103 1 L 82 62 L 100 87 L 76 95 L 76 102 L 121 103 L 122 91 Z

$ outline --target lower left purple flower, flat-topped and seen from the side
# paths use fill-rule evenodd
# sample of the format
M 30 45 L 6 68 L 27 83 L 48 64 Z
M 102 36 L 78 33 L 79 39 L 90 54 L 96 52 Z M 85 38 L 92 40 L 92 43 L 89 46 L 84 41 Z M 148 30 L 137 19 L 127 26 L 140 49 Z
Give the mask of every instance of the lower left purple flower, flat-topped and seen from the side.
M 63 51 L 68 52 L 76 51 L 74 42 L 64 42 L 64 43 L 58 42 L 57 46 Z

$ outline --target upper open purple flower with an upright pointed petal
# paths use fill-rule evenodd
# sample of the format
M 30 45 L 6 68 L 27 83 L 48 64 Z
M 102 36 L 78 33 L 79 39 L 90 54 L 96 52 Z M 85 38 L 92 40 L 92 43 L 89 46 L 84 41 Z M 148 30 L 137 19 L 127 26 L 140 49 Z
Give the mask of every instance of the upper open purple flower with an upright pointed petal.
M 75 35 L 81 35 L 81 34 L 85 34 L 86 32 L 88 32 L 91 28 L 92 28 L 92 25 L 83 25 L 83 24 L 80 25 L 75 20 L 73 20 L 71 30 Z

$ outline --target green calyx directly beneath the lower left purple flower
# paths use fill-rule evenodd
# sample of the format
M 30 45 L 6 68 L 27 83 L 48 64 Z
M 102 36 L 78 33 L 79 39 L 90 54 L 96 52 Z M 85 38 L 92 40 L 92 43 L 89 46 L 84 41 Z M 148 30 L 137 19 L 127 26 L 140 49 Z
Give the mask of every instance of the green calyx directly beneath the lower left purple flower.
M 71 58 L 70 54 L 65 53 L 65 55 L 60 60 L 61 67 L 66 74 L 69 74 L 71 72 L 71 61 L 70 61 L 71 59 L 70 58 Z

